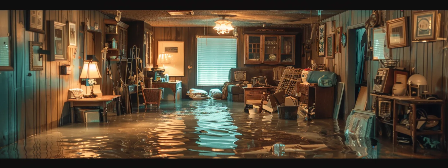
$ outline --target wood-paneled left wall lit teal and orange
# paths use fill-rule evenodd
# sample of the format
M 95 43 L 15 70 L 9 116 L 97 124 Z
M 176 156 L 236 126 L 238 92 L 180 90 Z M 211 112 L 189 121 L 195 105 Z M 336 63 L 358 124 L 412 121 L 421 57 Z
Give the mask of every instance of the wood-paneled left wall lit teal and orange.
M 108 17 L 96 11 L 80 10 L 48 10 L 45 16 L 46 21 L 75 23 L 80 30 L 78 49 L 67 49 L 68 62 L 50 62 L 44 56 L 43 70 L 30 71 L 29 41 L 43 42 L 46 49 L 47 37 L 26 31 L 24 11 L 13 11 L 14 71 L 0 72 L 0 107 L 5 109 L 0 111 L 0 147 L 69 122 L 68 90 L 81 87 L 82 23 L 89 18 L 91 26 L 95 21 L 103 26 L 103 18 Z M 60 65 L 65 64 L 71 65 L 72 74 L 60 75 Z

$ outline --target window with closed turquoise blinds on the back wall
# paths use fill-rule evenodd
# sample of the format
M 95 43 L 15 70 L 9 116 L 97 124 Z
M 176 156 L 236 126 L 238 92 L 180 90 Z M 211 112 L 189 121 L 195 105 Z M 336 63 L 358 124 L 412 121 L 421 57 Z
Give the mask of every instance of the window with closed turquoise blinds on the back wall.
M 197 36 L 197 86 L 222 86 L 228 71 L 237 67 L 237 39 L 232 36 Z

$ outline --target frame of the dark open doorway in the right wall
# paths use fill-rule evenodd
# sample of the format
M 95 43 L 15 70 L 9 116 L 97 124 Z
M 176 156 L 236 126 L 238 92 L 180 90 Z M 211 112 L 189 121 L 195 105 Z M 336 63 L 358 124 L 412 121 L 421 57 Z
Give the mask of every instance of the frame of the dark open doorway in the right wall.
M 353 35 L 353 30 L 359 29 L 361 27 L 365 27 L 366 23 L 359 23 L 352 26 L 347 26 L 347 58 L 345 59 L 345 65 L 347 65 L 345 70 L 345 98 L 344 98 L 344 119 L 347 119 L 352 109 L 355 107 L 355 87 L 356 83 L 353 82 L 353 78 L 356 78 L 355 70 L 356 69 L 356 59 L 350 59 L 350 56 L 356 56 L 356 50 L 351 50 L 350 39 L 352 41 L 356 38 L 356 35 Z M 350 33 L 350 31 L 352 31 Z M 355 31 L 356 33 L 356 31 Z M 353 47 L 352 47 L 353 48 Z M 352 80 L 350 80 L 352 79 Z M 351 100 L 351 101 L 350 101 Z M 353 101 L 355 100 L 355 101 Z

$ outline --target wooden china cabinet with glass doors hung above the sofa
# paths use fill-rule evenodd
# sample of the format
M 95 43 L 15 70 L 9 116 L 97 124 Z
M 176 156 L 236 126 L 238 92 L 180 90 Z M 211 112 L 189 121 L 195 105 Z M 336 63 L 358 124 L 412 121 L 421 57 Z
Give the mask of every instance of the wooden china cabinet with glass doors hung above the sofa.
M 294 65 L 296 32 L 250 31 L 245 34 L 245 63 Z

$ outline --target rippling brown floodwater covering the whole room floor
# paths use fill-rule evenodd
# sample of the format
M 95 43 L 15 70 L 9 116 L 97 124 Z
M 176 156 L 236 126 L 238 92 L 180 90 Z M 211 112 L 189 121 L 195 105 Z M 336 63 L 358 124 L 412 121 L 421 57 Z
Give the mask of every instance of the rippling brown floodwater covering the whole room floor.
M 111 113 L 113 114 L 113 113 Z M 160 108 L 74 123 L 0 148 L 0 158 L 446 158 L 344 134 L 345 121 L 281 120 L 223 100 L 165 101 Z

